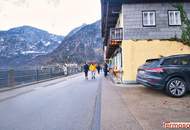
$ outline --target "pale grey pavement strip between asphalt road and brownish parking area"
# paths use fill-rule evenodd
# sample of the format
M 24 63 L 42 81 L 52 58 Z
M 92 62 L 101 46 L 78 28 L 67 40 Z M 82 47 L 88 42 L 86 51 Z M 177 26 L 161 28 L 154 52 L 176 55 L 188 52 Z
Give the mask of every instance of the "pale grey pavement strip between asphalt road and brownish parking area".
M 115 86 L 108 79 L 102 82 L 101 130 L 143 130 L 129 110 L 128 104 L 121 98 L 118 89 L 121 87 Z

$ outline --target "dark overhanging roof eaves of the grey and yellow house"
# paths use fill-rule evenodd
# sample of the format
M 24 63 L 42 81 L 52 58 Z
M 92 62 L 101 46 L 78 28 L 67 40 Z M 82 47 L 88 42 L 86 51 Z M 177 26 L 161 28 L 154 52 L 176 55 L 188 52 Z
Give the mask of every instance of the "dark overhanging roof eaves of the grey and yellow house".
M 115 27 L 122 4 L 133 3 L 170 3 L 170 2 L 190 2 L 190 0 L 101 0 L 102 12 L 102 37 L 104 44 L 107 44 L 109 29 Z

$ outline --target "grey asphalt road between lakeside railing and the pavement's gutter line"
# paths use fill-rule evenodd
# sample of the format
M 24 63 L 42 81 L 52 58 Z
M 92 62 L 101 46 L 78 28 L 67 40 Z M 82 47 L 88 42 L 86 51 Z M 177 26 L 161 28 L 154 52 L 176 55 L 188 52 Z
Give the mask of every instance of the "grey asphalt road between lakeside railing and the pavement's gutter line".
M 100 129 L 101 77 L 46 83 L 0 100 L 0 130 Z

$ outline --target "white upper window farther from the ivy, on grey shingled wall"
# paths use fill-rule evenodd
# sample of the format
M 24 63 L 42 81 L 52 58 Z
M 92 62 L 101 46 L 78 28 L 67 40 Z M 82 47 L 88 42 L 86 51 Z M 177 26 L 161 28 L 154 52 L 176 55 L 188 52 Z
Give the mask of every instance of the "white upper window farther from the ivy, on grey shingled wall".
M 143 26 L 156 26 L 155 11 L 143 11 Z

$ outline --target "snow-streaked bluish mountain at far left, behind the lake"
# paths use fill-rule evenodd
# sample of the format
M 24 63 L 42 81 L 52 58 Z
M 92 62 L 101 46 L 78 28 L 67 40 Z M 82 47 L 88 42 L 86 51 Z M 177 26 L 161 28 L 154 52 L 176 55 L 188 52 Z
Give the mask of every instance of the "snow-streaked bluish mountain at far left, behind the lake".
M 0 66 L 23 64 L 39 55 L 51 53 L 63 36 L 31 26 L 0 31 Z

